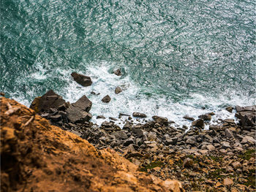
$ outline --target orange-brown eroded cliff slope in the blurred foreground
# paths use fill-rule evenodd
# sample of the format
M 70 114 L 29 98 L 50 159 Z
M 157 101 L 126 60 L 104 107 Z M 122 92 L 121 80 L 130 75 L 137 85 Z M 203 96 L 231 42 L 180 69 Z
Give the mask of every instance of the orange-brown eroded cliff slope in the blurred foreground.
M 178 181 L 138 172 L 114 150 L 96 150 L 34 110 L 0 99 L 1 191 L 181 191 Z

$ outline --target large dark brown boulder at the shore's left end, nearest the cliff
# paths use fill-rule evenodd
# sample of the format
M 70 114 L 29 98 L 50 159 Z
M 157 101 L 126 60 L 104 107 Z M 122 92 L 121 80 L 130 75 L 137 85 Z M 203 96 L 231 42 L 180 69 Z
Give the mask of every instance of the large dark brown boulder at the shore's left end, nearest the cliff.
M 48 91 L 41 97 L 37 97 L 32 101 L 30 108 L 37 113 L 50 112 L 50 108 L 58 108 L 65 104 L 66 101 L 61 96 L 54 93 L 53 90 Z

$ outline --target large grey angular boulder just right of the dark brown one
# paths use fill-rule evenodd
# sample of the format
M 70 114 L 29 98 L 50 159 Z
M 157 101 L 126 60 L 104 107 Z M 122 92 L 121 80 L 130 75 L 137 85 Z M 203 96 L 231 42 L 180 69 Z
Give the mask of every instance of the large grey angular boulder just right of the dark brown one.
M 89 121 L 92 117 L 89 113 L 91 105 L 91 101 L 86 96 L 82 96 L 78 101 L 67 108 L 67 118 L 72 123 L 83 123 L 85 121 Z

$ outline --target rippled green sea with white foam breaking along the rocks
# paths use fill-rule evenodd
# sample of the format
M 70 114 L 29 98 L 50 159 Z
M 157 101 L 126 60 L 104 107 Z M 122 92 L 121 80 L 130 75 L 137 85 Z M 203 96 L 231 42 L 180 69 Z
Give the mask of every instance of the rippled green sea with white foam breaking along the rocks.
M 255 104 L 253 0 L 4 0 L 0 8 L 1 91 L 28 107 L 53 89 L 70 102 L 88 96 L 94 122 L 138 111 L 189 125 L 184 115 L 215 112 L 216 121 L 233 118 L 227 106 Z M 71 72 L 93 84 L 81 87 Z

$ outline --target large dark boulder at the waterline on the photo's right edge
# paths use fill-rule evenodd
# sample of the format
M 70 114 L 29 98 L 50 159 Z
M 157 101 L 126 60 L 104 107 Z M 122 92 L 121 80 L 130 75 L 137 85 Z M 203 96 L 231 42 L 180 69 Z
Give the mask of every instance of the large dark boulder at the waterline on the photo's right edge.
M 243 127 L 254 127 L 256 125 L 256 105 L 239 107 L 236 106 L 236 118 Z

